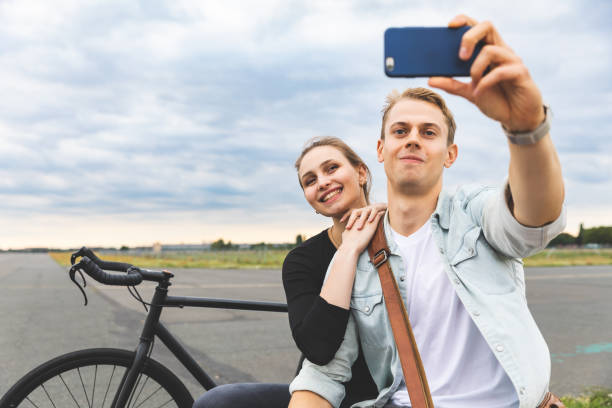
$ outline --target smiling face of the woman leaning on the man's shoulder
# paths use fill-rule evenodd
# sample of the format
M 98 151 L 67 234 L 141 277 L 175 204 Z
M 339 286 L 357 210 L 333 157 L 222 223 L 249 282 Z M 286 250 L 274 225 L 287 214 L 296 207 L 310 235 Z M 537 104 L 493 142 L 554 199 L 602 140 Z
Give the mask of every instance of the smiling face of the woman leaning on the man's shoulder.
M 365 167 L 353 167 L 335 147 L 319 146 L 306 153 L 298 176 L 306 201 L 320 214 L 341 217 L 366 205 L 361 187 L 367 181 Z

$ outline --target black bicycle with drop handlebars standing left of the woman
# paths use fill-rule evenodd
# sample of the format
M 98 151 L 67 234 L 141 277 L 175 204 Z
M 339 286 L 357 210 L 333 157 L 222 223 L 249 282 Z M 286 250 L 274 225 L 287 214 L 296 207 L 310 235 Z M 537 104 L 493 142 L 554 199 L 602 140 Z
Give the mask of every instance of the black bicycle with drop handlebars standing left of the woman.
M 76 262 L 77 258 L 80 258 L 79 262 Z M 73 405 L 88 408 L 191 408 L 194 400 L 183 382 L 150 357 L 155 338 L 166 345 L 205 390 L 217 384 L 160 322 L 163 308 L 212 307 L 287 312 L 287 305 L 283 303 L 169 296 L 170 281 L 174 277 L 172 273 L 104 261 L 86 247 L 73 253 L 70 263 L 70 279 L 82 292 L 85 305 L 87 295 L 84 288 L 87 284 L 83 272 L 102 284 L 127 286 L 130 294 L 143 304 L 147 316 L 138 345 L 134 351 L 94 348 L 49 360 L 17 381 L 0 400 L 0 408 L 60 408 Z M 126 275 L 105 270 L 125 272 Z M 76 279 L 77 273 L 82 284 Z M 142 281 L 157 282 L 150 303 L 145 302 L 136 289 Z

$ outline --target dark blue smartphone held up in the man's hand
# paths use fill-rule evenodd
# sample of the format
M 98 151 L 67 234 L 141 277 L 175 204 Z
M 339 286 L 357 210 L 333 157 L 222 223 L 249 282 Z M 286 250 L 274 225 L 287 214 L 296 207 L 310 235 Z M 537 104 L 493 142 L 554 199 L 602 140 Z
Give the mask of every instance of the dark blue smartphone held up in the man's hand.
M 399 27 L 385 31 L 385 74 L 389 77 L 470 76 L 472 57 L 459 58 L 461 37 L 471 27 Z

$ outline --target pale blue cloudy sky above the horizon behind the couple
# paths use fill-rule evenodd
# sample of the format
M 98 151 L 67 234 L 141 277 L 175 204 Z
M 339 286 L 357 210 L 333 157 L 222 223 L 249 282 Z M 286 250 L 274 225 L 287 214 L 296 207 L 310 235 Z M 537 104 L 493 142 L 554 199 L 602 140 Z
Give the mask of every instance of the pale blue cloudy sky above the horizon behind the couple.
M 0 1 L 0 249 L 293 241 L 314 214 L 293 161 L 316 135 L 369 163 L 390 26 L 491 20 L 554 111 L 568 231 L 612 225 L 612 2 Z M 499 184 L 497 123 L 448 96 L 459 159 Z

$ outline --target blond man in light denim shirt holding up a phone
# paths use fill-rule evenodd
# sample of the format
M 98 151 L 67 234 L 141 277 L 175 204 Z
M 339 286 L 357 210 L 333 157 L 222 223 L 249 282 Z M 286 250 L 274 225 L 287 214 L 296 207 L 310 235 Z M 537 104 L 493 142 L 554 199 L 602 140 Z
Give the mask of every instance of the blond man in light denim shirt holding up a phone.
M 548 133 L 550 113 L 526 67 L 490 23 L 461 15 L 449 24 L 463 25 L 473 27 L 463 36 L 462 59 L 478 41 L 486 43 L 471 83 L 430 78 L 429 85 L 468 99 L 501 123 L 510 149 L 508 180 L 501 190 L 443 191 L 443 169 L 457 158 L 452 114 L 423 88 L 391 95 L 377 146 L 387 175 L 389 262 L 434 405 L 534 408 L 548 391 L 550 356 L 527 308 L 520 258 L 564 228 L 561 167 Z M 379 394 L 355 406 L 410 406 L 367 251 L 359 258 L 350 308 L 336 356 L 325 366 L 305 362 L 291 384 L 290 407 L 338 406 L 359 346 Z

